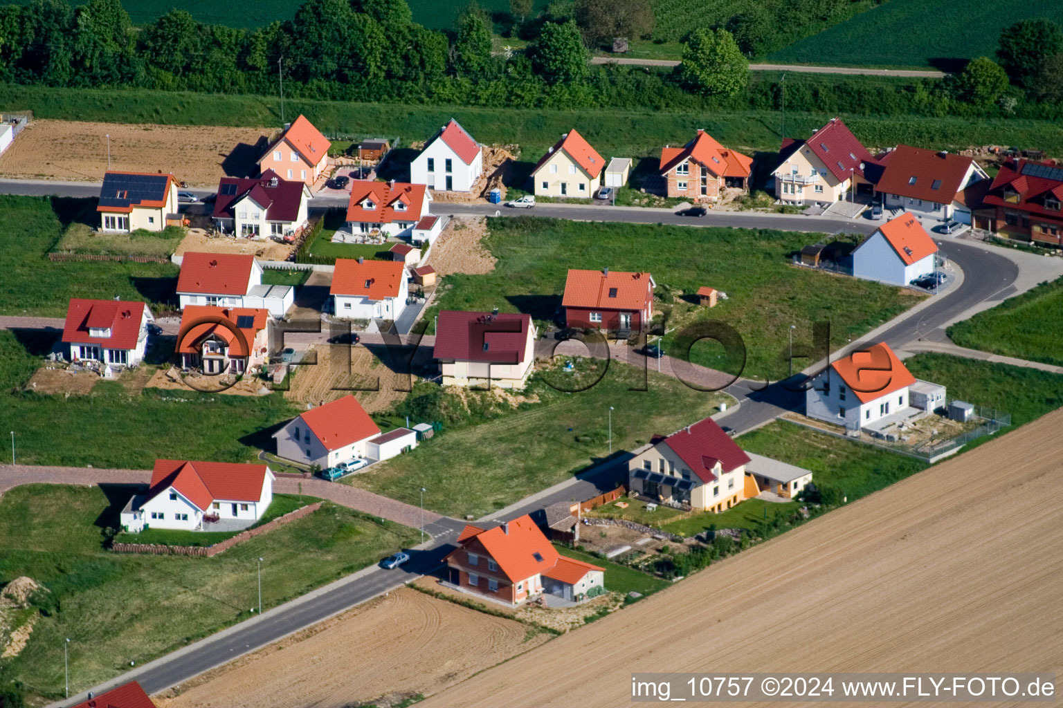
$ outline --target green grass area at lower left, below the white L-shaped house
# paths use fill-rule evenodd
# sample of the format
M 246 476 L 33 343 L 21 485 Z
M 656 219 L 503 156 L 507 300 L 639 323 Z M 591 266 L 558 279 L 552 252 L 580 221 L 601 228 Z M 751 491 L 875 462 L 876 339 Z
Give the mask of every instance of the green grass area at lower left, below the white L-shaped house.
M 31 695 L 63 697 L 64 638 L 77 692 L 247 619 L 258 602 L 258 557 L 267 609 L 416 542 L 410 529 L 326 504 L 213 558 L 113 553 L 106 528 L 128 495 L 30 485 L 0 499 L 0 584 L 29 575 L 50 591 L 6 667 Z

